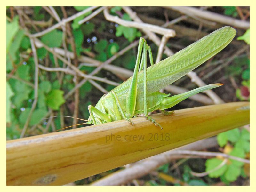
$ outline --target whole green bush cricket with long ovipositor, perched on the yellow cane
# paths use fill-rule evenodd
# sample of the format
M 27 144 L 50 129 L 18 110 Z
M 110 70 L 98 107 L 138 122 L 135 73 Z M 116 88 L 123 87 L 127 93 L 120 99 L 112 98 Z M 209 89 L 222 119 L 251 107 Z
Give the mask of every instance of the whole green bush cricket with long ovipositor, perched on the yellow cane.
M 209 84 L 171 97 L 171 94 L 158 91 L 220 52 L 235 35 L 234 28 L 222 27 L 156 64 L 153 64 L 151 49 L 146 44 L 146 40 L 140 38 L 133 76 L 108 94 L 104 94 L 95 107 L 89 105 L 90 116 L 85 124 L 96 125 L 125 119 L 133 125 L 130 118 L 144 114 L 146 119 L 161 127 L 148 116 L 149 112 L 162 110 L 164 115 L 171 115 L 172 111 L 166 112 L 164 109 L 171 108 L 192 95 L 223 84 Z M 151 64 L 148 68 L 147 52 Z

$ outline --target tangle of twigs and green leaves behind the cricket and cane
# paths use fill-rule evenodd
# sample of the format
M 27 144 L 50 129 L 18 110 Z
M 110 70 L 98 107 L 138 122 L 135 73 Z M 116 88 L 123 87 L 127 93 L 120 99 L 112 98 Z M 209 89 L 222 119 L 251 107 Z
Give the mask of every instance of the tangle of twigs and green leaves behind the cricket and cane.
M 84 12 L 84 10 L 91 11 Z M 97 103 L 103 93 L 113 89 L 129 77 L 136 60 L 137 40 L 145 31 L 125 27 L 106 20 L 105 7 L 7 7 L 6 8 L 6 136 L 17 139 L 56 131 L 65 126 L 83 123 L 64 117 L 87 119 L 87 106 Z M 194 70 L 199 77 L 196 84 L 188 76 L 175 82 L 169 90 L 193 89 L 206 84 L 224 83 L 214 90 L 214 96 L 201 95 L 185 100 L 172 110 L 205 104 L 249 100 L 250 98 L 250 10 L 249 7 L 197 7 L 195 10 L 213 12 L 223 21 L 202 18 L 196 13 L 177 11 L 167 7 L 130 7 L 145 23 L 165 25 L 176 36 L 166 46 L 177 52 L 215 29 L 228 25 L 225 16 L 240 21 L 237 36 L 222 52 Z M 77 13 L 83 13 L 77 15 Z M 95 13 L 95 14 L 94 14 Z M 97 13 L 97 14 L 96 14 Z M 111 7 L 108 14 L 132 21 L 132 15 L 122 7 Z M 88 18 L 89 17 L 89 18 Z M 90 18 L 91 17 L 91 18 Z M 136 16 L 135 16 L 136 17 Z M 216 16 L 217 17 L 217 16 Z M 72 20 L 69 20 L 72 18 Z M 79 21 L 88 18 L 84 23 Z M 60 23 L 53 29 L 53 27 Z M 137 21 L 138 22 L 138 21 Z M 246 25 L 247 24 L 247 25 Z M 48 33 L 45 29 L 52 28 Z M 33 35 L 32 35 L 33 34 Z M 160 35 L 157 35 L 161 39 Z M 147 39 L 153 58 L 159 54 L 159 44 Z M 168 52 L 164 52 L 162 59 Z M 103 65 L 102 65 L 103 63 Z M 70 66 L 70 65 L 73 65 Z M 101 67 L 104 66 L 101 70 Z M 108 67 L 106 67 L 108 66 Z M 114 68 L 118 66 L 120 68 Z M 126 69 L 123 75 L 121 68 Z M 78 71 L 80 70 L 80 72 Z M 96 70 L 96 71 L 95 71 Z M 96 74 L 105 79 L 85 79 L 84 74 Z M 128 75 L 127 75 L 128 74 Z M 131 75 L 130 75 L 131 76 Z M 107 81 L 108 80 L 108 81 Z M 194 79 L 195 80 L 195 79 Z M 170 90 L 171 89 L 171 90 Z M 183 90 L 184 91 L 184 90 Z M 84 126 L 84 125 L 81 125 Z M 237 128 L 217 136 L 218 145 L 205 149 L 248 159 L 250 156 L 249 127 Z M 249 164 L 223 157 L 181 157 L 159 167 L 127 185 L 249 185 Z M 222 165 L 223 164 L 223 165 Z M 220 166 L 221 165 L 221 166 Z M 216 169 L 217 167 L 217 169 Z M 104 172 L 76 185 L 90 184 L 119 169 Z M 198 177 L 196 172 L 205 172 Z

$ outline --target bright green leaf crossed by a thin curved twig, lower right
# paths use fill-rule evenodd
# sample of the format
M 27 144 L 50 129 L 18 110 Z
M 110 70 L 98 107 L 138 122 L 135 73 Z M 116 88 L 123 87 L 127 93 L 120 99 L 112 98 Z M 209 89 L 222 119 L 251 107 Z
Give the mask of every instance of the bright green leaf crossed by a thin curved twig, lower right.
M 217 158 L 207 159 L 206 162 L 205 162 L 205 166 L 206 166 L 205 171 L 206 172 L 212 171 L 217 166 L 219 166 L 222 162 L 223 162 L 223 160 L 217 159 Z M 209 177 L 211 177 L 211 178 L 220 177 L 220 175 L 222 175 L 226 171 L 226 169 L 227 169 L 227 165 L 225 164 L 224 166 L 222 166 L 221 168 L 217 169 L 216 171 L 211 172 L 209 174 Z

